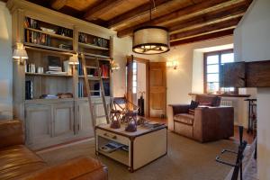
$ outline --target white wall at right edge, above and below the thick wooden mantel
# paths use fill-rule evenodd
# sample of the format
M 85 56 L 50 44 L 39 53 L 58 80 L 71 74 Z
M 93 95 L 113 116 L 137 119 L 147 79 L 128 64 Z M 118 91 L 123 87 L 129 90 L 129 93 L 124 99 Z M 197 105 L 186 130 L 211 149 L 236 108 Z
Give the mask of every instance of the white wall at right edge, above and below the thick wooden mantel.
M 254 0 L 234 31 L 238 61 L 270 59 L 270 1 Z M 270 179 L 270 88 L 257 90 L 258 178 Z

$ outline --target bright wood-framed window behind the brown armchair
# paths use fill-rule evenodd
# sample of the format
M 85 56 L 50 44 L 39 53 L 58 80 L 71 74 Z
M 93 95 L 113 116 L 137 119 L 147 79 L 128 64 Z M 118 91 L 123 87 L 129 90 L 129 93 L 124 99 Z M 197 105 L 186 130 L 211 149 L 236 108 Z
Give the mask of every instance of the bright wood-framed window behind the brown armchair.
M 204 53 L 204 93 L 237 93 L 234 87 L 220 87 L 220 65 L 234 62 L 233 49 Z

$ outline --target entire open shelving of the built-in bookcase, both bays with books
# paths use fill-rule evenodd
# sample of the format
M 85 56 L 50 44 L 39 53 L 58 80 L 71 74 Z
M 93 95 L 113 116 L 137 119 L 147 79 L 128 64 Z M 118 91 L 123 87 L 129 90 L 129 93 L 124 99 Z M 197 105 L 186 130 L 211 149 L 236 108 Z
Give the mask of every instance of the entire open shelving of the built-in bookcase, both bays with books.
M 23 31 L 24 46 L 29 55 L 25 64 L 25 100 L 44 98 L 45 94 L 73 94 L 74 97 L 86 97 L 80 56 L 76 72 L 72 72 L 68 65 L 68 58 L 76 52 L 79 55 L 85 54 L 86 66 L 90 67 L 87 76 L 92 89 L 91 94 L 101 96 L 101 85 L 95 64 L 97 58 L 103 78 L 104 93 L 106 96 L 111 96 L 109 39 L 81 31 L 75 32 L 73 29 L 27 16 L 24 18 Z M 77 40 L 74 39 L 75 37 Z M 75 52 L 74 49 L 77 51 Z M 77 94 L 74 94 L 74 88 L 77 88 Z

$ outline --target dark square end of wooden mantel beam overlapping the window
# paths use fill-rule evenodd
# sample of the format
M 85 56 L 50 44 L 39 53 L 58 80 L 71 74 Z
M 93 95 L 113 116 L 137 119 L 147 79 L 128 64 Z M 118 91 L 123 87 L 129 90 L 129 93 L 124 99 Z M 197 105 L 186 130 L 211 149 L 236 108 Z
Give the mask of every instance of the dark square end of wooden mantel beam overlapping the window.
M 245 87 L 245 62 L 226 63 L 220 66 L 220 87 Z

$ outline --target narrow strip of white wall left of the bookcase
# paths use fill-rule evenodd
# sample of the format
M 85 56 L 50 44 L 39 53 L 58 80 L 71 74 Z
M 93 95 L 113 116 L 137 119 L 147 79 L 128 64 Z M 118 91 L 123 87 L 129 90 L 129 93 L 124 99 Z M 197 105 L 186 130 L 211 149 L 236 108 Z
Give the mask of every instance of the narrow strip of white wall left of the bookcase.
M 0 120 L 13 114 L 12 17 L 0 2 Z

